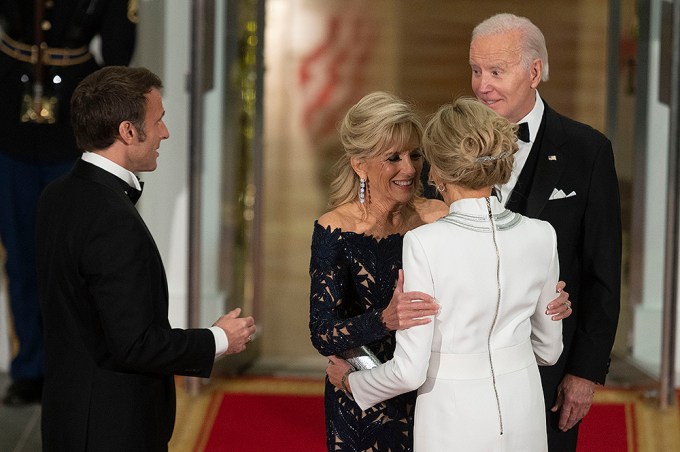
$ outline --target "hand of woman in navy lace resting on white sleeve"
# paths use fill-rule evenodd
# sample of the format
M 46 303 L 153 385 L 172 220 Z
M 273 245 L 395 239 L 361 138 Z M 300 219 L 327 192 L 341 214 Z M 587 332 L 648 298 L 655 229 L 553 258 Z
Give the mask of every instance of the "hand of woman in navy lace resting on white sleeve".
M 412 326 L 425 325 L 431 316 L 439 312 L 437 301 L 423 292 L 404 292 L 404 271 L 399 270 L 397 287 L 381 314 L 383 325 L 389 331 L 405 330 Z

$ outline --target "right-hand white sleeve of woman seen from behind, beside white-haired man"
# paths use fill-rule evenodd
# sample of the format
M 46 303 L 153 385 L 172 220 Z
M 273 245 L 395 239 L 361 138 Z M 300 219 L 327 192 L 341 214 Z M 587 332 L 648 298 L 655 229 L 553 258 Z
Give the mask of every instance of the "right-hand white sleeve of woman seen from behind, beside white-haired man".
M 531 316 L 531 345 L 534 349 L 536 362 L 541 366 L 552 366 L 562 353 L 562 321 L 554 321 L 545 315 L 548 303 L 555 299 L 555 287 L 560 274 L 560 264 L 557 256 L 557 237 L 555 230 L 550 227 L 550 246 L 552 258 L 550 268 L 540 298 L 536 304 L 536 311 Z

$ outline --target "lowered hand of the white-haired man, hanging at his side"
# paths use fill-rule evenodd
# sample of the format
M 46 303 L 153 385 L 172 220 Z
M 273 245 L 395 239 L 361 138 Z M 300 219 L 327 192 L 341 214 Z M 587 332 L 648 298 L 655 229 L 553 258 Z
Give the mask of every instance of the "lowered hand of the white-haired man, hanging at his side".
M 551 408 L 560 412 L 559 428 L 563 432 L 574 427 L 588 414 L 595 396 L 595 383 L 576 375 L 566 374 L 557 387 L 557 400 Z

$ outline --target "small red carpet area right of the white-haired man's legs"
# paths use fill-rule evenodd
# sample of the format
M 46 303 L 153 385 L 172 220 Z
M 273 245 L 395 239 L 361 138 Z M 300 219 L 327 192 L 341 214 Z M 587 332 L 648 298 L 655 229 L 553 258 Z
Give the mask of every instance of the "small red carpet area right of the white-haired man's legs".
M 632 403 L 595 403 L 581 423 L 576 452 L 637 452 Z

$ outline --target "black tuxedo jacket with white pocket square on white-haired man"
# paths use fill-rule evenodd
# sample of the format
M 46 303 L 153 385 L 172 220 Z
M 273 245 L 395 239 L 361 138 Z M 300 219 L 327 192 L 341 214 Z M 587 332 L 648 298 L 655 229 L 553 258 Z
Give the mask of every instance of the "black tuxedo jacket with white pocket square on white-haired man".
M 573 313 L 564 352 L 541 367 L 549 409 L 565 373 L 604 383 L 619 315 L 621 208 L 611 142 L 545 104 L 536 141 L 506 207 L 557 232 Z

